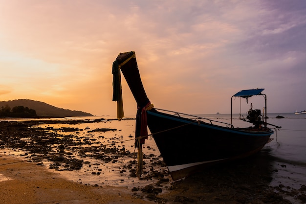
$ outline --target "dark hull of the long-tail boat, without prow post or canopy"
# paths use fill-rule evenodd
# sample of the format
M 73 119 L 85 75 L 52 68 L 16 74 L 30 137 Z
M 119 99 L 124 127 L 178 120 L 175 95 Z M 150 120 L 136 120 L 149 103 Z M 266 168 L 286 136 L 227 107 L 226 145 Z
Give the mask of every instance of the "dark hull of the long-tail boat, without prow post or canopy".
M 173 180 L 213 164 L 250 156 L 273 134 L 270 129 L 234 129 L 156 110 L 147 112 L 147 120 Z

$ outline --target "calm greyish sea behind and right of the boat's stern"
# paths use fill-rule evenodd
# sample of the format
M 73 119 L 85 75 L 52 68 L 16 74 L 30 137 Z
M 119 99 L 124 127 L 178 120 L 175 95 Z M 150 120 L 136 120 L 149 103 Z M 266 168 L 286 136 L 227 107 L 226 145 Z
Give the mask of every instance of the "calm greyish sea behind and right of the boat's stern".
M 278 115 L 284 118 L 276 118 Z M 231 123 L 230 114 L 198 116 Z M 271 185 L 283 184 L 299 189 L 301 185 L 306 185 L 306 114 L 268 113 L 267 116 L 268 123 L 282 127 L 274 130 L 271 136 L 274 140 L 266 144 L 261 152 L 275 169 Z M 239 119 L 239 114 L 233 117 L 235 127 L 247 126 L 247 123 Z

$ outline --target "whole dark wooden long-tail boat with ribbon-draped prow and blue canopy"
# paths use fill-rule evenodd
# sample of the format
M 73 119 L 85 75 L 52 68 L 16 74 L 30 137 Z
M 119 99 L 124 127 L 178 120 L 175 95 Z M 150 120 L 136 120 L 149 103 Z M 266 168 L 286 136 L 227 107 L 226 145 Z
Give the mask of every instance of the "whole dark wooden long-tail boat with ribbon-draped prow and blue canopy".
M 261 110 L 248 111 L 241 118 L 254 126 L 234 128 L 231 124 L 208 118 L 154 108 L 141 82 L 135 52 L 120 53 L 113 63 L 113 101 L 117 101 L 117 116 L 122 118 L 122 71 L 136 100 L 135 147 L 138 148 L 138 175 L 142 173 L 142 145 L 148 138 L 148 129 L 166 163 L 173 180 L 184 178 L 207 166 L 248 157 L 270 142 L 274 133 L 266 119 L 266 95 L 264 89 L 239 91 L 232 96 L 248 99 L 261 95 L 265 100 L 265 117 Z M 232 109 L 231 109 L 231 115 Z M 276 128 L 281 128 L 272 125 Z

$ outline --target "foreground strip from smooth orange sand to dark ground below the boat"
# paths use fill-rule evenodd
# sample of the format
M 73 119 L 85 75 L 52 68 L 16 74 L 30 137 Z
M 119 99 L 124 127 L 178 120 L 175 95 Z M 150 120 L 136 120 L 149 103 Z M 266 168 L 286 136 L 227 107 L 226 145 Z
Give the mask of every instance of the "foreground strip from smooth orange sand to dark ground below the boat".
M 185 178 L 175 182 L 168 193 L 155 195 L 133 193 L 125 187 L 93 186 L 67 181 L 40 165 L 1 156 L 0 204 L 303 203 L 301 200 L 290 202 L 283 198 L 284 195 L 276 193 L 275 189 L 267 185 L 269 175 L 264 174 L 256 164 L 236 165 L 210 169 Z M 302 190 L 305 191 L 305 186 Z

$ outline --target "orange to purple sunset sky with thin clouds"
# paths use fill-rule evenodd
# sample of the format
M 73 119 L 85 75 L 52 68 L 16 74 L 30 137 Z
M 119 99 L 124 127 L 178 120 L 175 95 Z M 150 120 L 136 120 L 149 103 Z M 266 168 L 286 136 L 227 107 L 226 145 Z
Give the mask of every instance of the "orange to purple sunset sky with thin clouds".
M 268 113 L 306 109 L 305 0 L 0 0 L 0 101 L 116 115 L 111 68 L 127 51 L 155 108 L 231 113 L 236 92 L 264 88 Z M 122 92 L 135 115 L 124 77 Z

